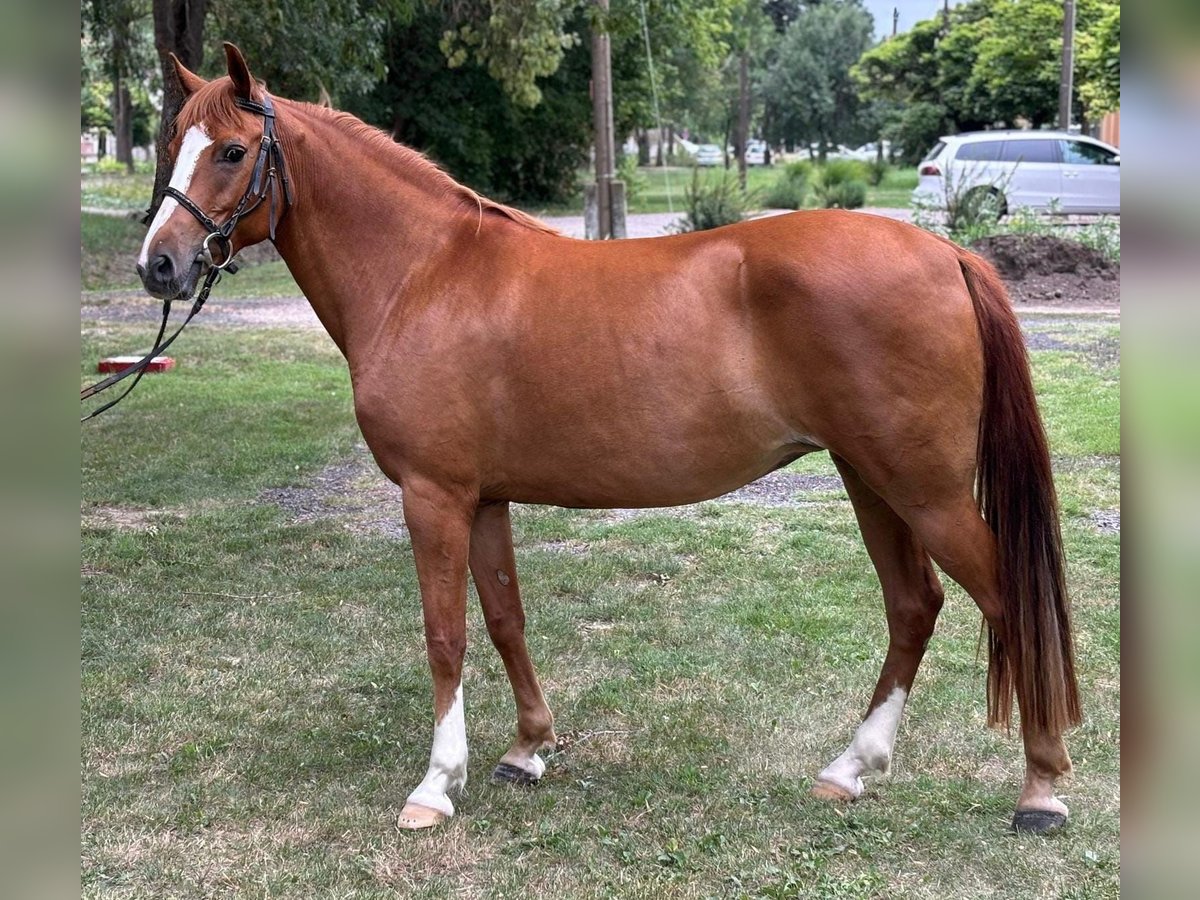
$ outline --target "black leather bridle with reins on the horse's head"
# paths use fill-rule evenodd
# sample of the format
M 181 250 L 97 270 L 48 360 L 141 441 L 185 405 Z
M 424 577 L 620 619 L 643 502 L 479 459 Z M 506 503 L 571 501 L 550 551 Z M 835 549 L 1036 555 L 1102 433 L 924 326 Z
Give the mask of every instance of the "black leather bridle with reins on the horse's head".
M 116 400 L 110 400 L 108 403 L 94 409 L 88 415 L 83 416 L 79 421 L 88 421 L 106 409 L 120 403 L 125 397 L 132 391 L 138 382 L 142 380 L 142 376 L 145 374 L 146 366 L 157 356 L 160 353 L 166 350 L 180 332 L 187 325 L 188 322 L 200 311 L 204 306 L 204 301 L 209 299 L 209 293 L 212 290 L 214 286 L 221 281 L 223 272 L 229 272 L 233 275 L 238 271 L 238 264 L 234 263 L 233 253 L 233 232 L 238 227 L 239 220 L 244 216 L 250 215 L 256 209 L 258 209 L 263 203 L 268 204 L 268 212 L 270 215 L 270 236 L 271 241 L 275 241 L 275 227 L 276 222 L 276 210 L 278 210 L 278 220 L 282 221 L 284 214 L 292 206 L 292 185 L 288 181 L 287 168 L 283 164 L 283 149 L 280 145 L 280 139 L 275 133 L 275 107 L 271 103 L 271 97 L 265 91 L 263 92 L 263 102 L 257 103 L 253 100 L 247 100 L 242 97 L 236 97 L 234 100 L 241 109 L 246 109 L 251 113 L 256 113 L 263 116 L 263 140 L 258 148 L 258 158 L 254 160 L 254 169 L 250 175 L 250 184 L 246 185 L 246 192 L 241 196 L 241 200 L 234 208 L 229 217 L 221 224 L 210 218 L 204 214 L 194 200 L 192 200 L 182 191 L 174 187 L 164 188 L 163 193 L 172 197 L 180 206 L 187 210 L 192 216 L 208 230 L 208 235 L 204 238 L 204 242 L 200 245 L 200 252 L 197 259 L 202 259 L 208 264 L 209 270 L 204 277 L 204 283 L 200 286 L 199 292 L 196 295 L 196 301 L 192 304 L 191 312 L 187 313 L 187 318 L 180 324 L 178 329 L 168 337 L 166 341 L 162 336 L 167 331 L 167 320 L 170 318 L 170 304 L 172 298 L 167 298 L 162 301 L 162 324 L 158 325 L 158 335 L 155 337 L 154 349 L 150 350 L 145 356 L 139 359 L 131 366 L 126 366 L 120 372 L 114 372 L 108 378 L 96 382 L 88 388 L 79 391 L 79 400 L 84 401 L 89 397 L 94 397 L 103 390 L 112 388 L 118 382 L 121 382 L 130 376 L 137 376 L 130 385 L 121 391 Z M 283 204 L 278 203 L 278 192 L 283 191 Z M 221 262 L 218 263 L 212 256 L 212 242 L 216 241 L 220 247 Z

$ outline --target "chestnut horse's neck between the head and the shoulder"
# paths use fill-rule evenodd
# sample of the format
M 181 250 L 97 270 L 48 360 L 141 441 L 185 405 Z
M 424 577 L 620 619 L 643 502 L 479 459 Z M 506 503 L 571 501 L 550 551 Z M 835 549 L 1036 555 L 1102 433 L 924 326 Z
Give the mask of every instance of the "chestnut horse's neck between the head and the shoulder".
M 276 247 L 343 355 L 376 334 L 409 275 L 469 226 L 466 194 L 432 163 L 288 104 L 295 203 Z M 302 128 L 302 133 L 299 130 Z M 473 228 L 473 227 L 472 227 Z

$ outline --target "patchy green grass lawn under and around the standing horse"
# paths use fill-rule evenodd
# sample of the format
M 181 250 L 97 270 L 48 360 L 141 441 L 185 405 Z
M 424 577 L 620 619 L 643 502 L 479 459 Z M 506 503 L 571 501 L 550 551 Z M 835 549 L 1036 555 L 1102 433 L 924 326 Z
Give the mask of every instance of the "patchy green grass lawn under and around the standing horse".
M 822 488 L 769 509 L 520 508 L 530 649 L 575 744 L 535 788 L 488 784 L 514 710 L 473 602 L 467 793 L 440 829 L 396 833 L 430 677 L 344 364 L 319 332 L 198 320 L 175 371 L 83 430 L 83 895 L 1117 896 L 1121 545 L 1097 515 L 1120 510 L 1120 364 L 1096 348 L 1120 331 L 1027 324 L 1062 348 L 1033 360 L 1087 715 L 1064 832 L 1006 832 L 1021 748 L 983 725 L 979 616 L 954 587 L 892 775 L 850 806 L 808 797 L 886 646 L 850 504 Z M 82 378 L 145 330 L 88 325 Z

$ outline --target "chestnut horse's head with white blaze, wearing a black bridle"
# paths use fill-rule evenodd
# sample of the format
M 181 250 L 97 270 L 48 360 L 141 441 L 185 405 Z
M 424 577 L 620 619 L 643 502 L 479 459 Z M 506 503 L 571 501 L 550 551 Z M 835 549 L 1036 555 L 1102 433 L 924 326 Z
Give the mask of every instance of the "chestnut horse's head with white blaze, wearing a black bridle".
M 185 101 L 168 148 L 170 184 L 137 263 L 154 296 L 187 298 L 206 265 L 274 239 L 288 200 L 271 101 L 241 50 L 224 50 L 228 76 L 211 82 L 172 55 Z

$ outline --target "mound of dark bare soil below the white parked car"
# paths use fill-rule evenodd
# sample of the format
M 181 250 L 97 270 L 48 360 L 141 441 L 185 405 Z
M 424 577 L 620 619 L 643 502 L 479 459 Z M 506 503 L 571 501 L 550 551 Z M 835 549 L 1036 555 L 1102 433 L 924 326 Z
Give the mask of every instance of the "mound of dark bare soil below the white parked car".
M 971 248 L 996 266 L 1013 302 L 1063 307 L 1120 307 L 1121 265 L 1050 234 L 994 234 Z

